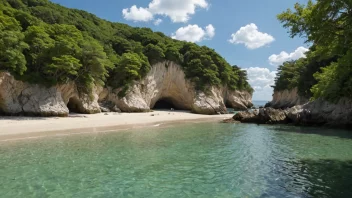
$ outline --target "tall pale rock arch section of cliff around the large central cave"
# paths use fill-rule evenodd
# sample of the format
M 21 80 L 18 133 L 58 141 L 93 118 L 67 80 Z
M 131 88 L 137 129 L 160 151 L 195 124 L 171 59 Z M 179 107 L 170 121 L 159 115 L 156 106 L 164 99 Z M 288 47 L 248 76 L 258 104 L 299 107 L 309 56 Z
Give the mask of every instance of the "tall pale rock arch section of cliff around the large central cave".
M 104 89 L 99 101 L 111 101 L 125 112 L 150 111 L 161 99 L 178 109 L 199 114 L 226 113 L 225 104 L 242 110 L 252 106 L 252 95 L 247 92 L 230 91 L 226 87 L 197 91 L 186 79 L 181 66 L 170 61 L 153 65 L 147 76 L 135 82 L 125 97 L 119 98 L 120 91 Z

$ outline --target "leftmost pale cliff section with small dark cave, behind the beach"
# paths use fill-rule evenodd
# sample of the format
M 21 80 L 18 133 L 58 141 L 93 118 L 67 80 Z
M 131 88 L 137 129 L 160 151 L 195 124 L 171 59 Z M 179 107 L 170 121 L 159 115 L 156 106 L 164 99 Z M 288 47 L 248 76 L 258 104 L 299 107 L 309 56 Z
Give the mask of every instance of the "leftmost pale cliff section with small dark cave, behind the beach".
M 73 83 L 44 87 L 15 80 L 0 73 L 0 113 L 6 115 L 67 116 L 68 106 L 77 113 L 100 112 L 96 94 L 79 94 Z

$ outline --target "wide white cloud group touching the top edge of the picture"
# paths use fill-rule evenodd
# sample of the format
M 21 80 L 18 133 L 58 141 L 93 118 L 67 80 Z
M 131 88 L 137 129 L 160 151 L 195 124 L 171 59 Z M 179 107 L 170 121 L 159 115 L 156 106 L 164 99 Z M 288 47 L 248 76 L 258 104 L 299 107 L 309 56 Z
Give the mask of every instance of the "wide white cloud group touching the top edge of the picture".
M 123 15 L 126 20 L 133 21 L 151 21 L 154 15 L 163 15 L 170 17 L 171 21 L 177 22 L 187 22 L 191 15 L 195 14 L 197 8 L 208 8 L 209 4 L 206 0 L 152 0 L 147 8 L 138 8 L 132 6 L 130 9 L 126 8 L 123 10 Z M 136 9 L 137 8 L 137 9 Z M 133 14 L 133 16 L 138 15 L 138 17 L 126 17 L 125 14 L 131 14 L 132 9 L 139 14 Z M 131 10 L 131 11 L 129 11 Z M 125 11 L 125 12 L 124 12 Z M 152 16 L 150 18 L 141 18 L 140 12 L 149 12 Z M 145 13 L 144 13 L 145 14 Z

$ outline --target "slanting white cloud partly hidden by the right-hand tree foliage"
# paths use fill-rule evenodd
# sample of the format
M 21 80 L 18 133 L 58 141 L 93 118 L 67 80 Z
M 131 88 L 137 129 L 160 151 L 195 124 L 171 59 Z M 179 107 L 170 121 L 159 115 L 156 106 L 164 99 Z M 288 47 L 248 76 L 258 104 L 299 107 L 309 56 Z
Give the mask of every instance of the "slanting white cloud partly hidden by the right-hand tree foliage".
M 289 60 L 297 60 L 299 58 L 305 58 L 305 53 L 309 51 L 309 49 L 305 47 L 298 47 L 294 52 L 287 53 L 282 51 L 280 54 L 273 54 L 269 57 L 269 62 L 271 65 L 281 65 L 282 63 Z

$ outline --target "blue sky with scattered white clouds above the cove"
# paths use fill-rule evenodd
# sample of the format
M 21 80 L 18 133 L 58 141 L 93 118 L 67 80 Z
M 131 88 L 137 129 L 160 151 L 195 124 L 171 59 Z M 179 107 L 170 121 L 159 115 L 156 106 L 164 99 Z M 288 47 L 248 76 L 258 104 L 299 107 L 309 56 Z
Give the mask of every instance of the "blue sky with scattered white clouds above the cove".
M 213 48 L 247 70 L 253 100 L 271 100 L 278 65 L 304 57 L 308 45 L 290 38 L 277 14 L 307 0 L 52 0 L 96 16 L 149 27 Z

